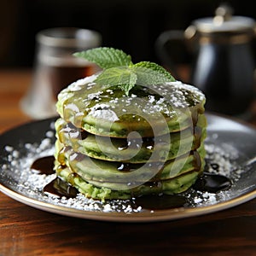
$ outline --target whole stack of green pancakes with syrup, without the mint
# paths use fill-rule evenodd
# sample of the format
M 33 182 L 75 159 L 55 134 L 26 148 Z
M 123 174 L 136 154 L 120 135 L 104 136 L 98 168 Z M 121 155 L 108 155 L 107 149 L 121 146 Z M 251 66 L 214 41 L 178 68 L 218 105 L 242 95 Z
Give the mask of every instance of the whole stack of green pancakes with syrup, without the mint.
M 80 79 L 58 96 L 57 177 L 100 200 L 189 189 L 205 165 L 201 91 L 167 82 L 136 84 L 127 95 L 95 79 Z

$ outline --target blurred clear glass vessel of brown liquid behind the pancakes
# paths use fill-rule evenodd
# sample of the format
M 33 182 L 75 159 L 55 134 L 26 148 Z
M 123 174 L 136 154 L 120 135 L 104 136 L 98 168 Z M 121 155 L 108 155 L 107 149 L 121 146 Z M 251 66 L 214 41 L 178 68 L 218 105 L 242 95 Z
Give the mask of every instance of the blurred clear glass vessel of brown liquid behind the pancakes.
M 102 44 L 99 32 L 75 27 L 38 32 L 32 84 L 21 100 L 22 110 L 33 119 L 56 114 L 58 93 L 78 79 L 99 71 L 95 64 L 73 56 L 74 52 Z

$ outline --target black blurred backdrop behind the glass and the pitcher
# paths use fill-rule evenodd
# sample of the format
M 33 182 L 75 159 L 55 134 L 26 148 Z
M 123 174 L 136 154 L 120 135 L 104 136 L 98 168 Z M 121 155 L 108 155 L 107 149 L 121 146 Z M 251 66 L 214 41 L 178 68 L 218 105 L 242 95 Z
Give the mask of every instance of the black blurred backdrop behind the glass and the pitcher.
M 216 0 L 2 0 L 0 67 L 32 67 L 35 34 L 55 26 L 76 26 L 102 34 L 102 44 L 123 49 L 133 61 L 157 61 L 160 32 L 185 29 L 214 15 Z M 226 1 L 234 15 L 256 18 L 253 1 Z

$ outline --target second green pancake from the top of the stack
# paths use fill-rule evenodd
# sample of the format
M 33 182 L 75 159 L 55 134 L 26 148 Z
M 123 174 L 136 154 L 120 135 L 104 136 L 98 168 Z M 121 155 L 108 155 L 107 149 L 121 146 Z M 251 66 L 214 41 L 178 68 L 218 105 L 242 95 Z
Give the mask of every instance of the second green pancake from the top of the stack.
M 100 160 L 144 163 L 148 160 L 171 160 L 198 148 L 206 137 L 205 128 L 201 127 L 205 117 L 201 115 L 200 119 L 195 129 L 189 127 L 160 137 L 140 139 L 95 136 L 71 123 L 67 124 L 63 119 L 55 122 L 55 130 L 59 141 L 78 153 Z

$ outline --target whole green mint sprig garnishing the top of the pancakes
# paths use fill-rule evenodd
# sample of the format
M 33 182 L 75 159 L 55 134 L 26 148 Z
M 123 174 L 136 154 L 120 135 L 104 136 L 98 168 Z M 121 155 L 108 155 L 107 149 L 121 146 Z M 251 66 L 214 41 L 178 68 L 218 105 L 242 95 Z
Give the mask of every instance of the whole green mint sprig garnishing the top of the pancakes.
M 164 67 L 149 61 L 133 64 L 131 56 L 120 49 L 99 47 L 74 55 L 102 67 L 103 72 L 96 78 L 97 84 L 105 88 L 119 86 L 127 96 L 135 84 L 152 85 L 175 81 Z

